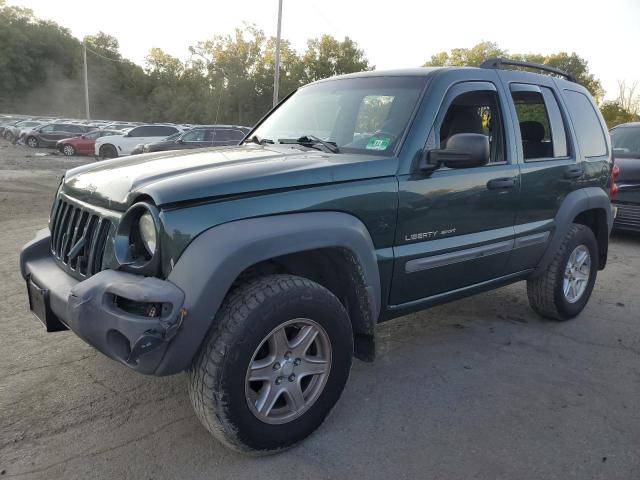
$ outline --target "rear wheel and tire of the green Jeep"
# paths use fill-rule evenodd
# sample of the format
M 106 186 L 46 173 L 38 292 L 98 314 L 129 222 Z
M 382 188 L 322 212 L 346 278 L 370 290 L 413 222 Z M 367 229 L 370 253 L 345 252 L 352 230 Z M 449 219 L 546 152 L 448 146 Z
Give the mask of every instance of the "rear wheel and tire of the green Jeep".
M 585 252 L 588 253 L 588 257 L 583 261 L 582 267 L 571 271 L 570 261 L 575 267 L 580 263 L 582 254 Z M 573 257 L 574 254 L 575 257 Z M 587 262 L 588 273 L 585 268 Z M 545 318 L 569 320 L 582 312 L 587 305 L 597 273 L 596 237 L 589 227 L 574 223 L 566 233 L 547 270 L 539 277 L 527 280 L 529 305 Z M 565 287 L 568 287 L 568 291 Z

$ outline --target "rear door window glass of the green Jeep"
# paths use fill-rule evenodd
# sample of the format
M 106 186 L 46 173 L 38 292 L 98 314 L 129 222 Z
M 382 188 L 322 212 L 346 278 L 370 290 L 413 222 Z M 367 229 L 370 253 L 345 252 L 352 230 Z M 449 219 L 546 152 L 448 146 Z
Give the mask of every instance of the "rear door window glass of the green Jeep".
M 511 97 L 518 114 L 524 159 L 566 157 L 567 134 L 551 89 L 512 84 Z

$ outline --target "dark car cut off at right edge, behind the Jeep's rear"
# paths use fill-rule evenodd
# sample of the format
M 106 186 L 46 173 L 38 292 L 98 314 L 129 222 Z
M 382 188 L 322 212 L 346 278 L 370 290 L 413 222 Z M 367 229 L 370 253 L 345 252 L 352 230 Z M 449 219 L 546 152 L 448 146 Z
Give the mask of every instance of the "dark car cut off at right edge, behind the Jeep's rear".
M 613 228 L 640 232 L 640 122 L 618 125 L 609 133 L 619 169 Z

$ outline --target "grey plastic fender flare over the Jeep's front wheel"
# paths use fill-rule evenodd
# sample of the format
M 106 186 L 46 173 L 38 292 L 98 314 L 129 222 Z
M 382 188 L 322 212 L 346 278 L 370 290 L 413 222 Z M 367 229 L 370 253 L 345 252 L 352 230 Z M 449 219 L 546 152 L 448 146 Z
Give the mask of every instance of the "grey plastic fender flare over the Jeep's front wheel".
M 187 315 L 155 374 L 168 375 L 189 367 L 227 292 L 244 270 L 282 255 L 332 247 L 347 249 L 359 262 L 368 317 L 377 322 L 381 287 L 375 247 L 365 225 L 352 215 L 308 212 L 251 218 L 198 235 L 167 278 L 185 293 Z

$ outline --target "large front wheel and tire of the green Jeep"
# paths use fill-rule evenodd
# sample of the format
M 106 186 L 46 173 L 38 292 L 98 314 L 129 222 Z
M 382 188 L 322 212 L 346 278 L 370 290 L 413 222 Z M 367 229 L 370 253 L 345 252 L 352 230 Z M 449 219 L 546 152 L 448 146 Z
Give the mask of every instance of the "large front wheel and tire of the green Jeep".
M 214 437 L 236 451 L 263 455 L 292 447 L 322 424 L 342 394 L 353 357 L 349 317 L 331 292 L 293 275 L 259 277 L 225 299 L 214 325 L 189 369 L 193 408 Z M 313 328 L 317 336 L 301 354 L 294 340 Z M 273 340 L 282 338 L 281 331 L 286 332 L 286 343 Z M 292 355 L 277 355 L 278 344 Z M 309 357 L 312 350 L 323 353 Z M 262 367 L 250 370 L 251 365 Z M 309 365 L 324 373 L 305 376 L 302 370 Z M 253 372 L 268 380 L 249 381 Z M 296 410 L 293 397 L 283 392 L 271 397 L 277 401 L 271 402 L 270 411 L 265 400 L 267 407 L 259 412 L 265 392 L 297 391 L 296 385 L 304 391 L 298 398 L 302 408 Z

